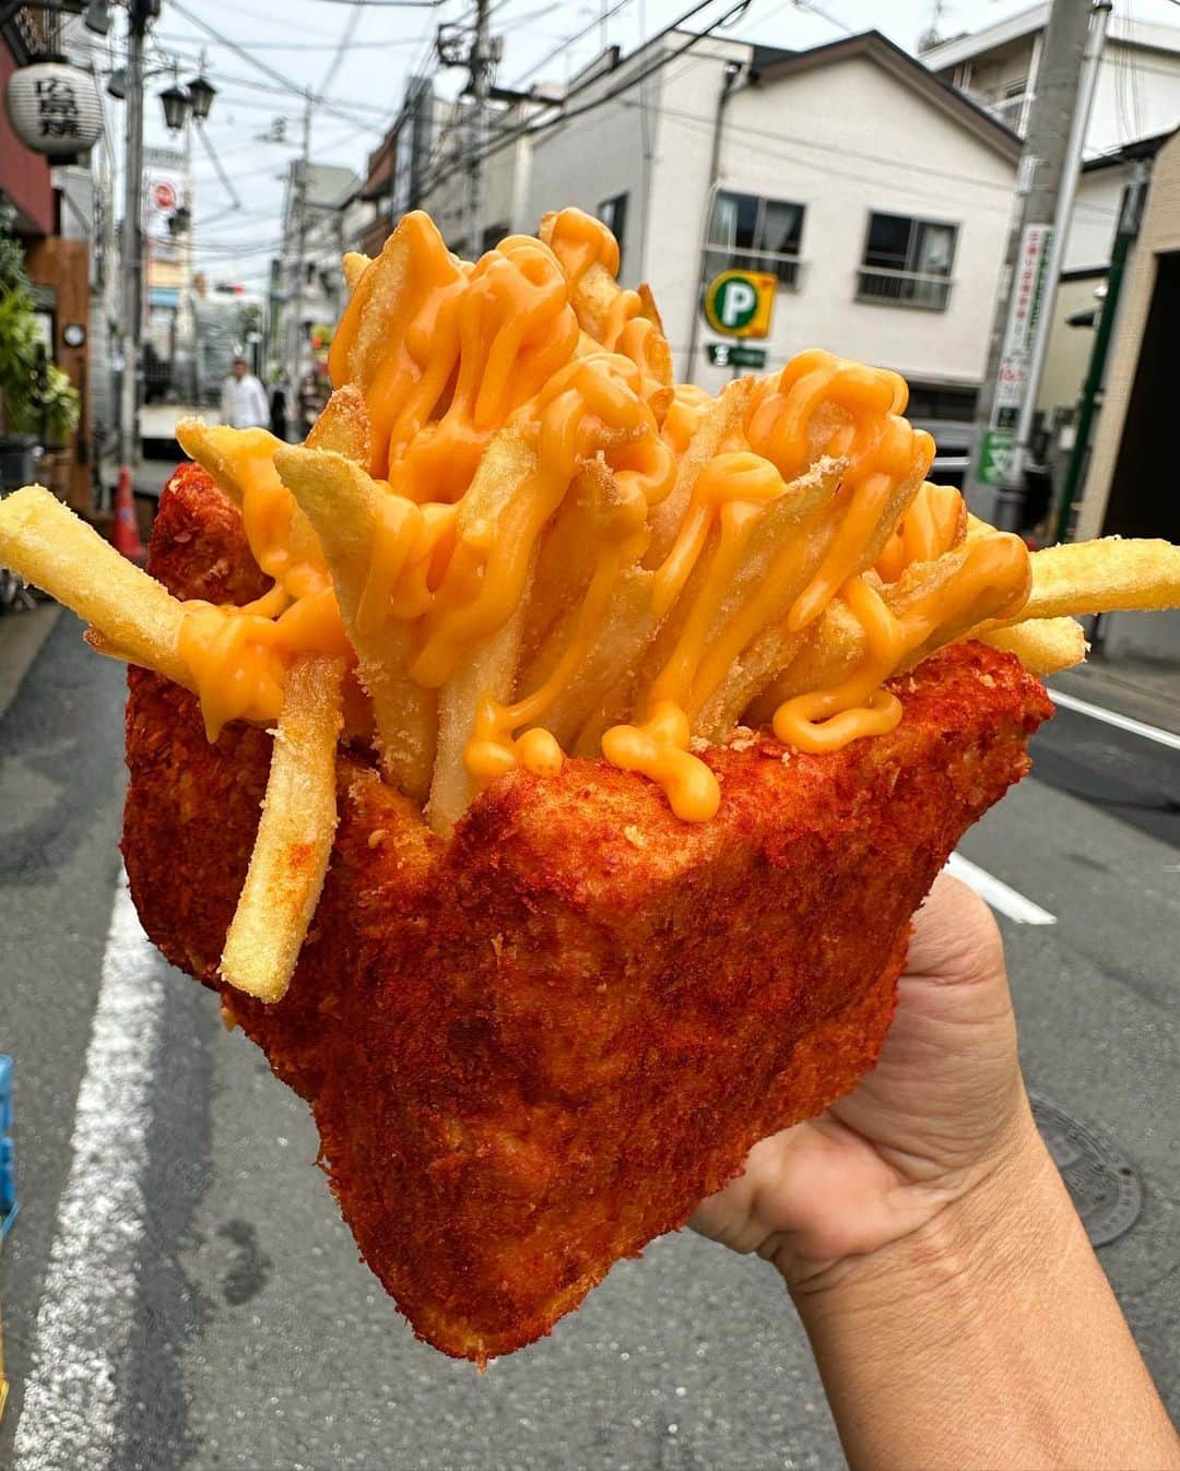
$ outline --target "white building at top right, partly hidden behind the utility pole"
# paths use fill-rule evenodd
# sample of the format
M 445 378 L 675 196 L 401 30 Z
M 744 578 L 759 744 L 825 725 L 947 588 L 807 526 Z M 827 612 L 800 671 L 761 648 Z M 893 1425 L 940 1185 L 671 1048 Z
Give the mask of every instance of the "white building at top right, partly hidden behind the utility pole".
M 1087 157 L 1170 132 L 1180 122 L 1180 28 L 1136 21 L 1129 12 L 1130 6 L 1118 6 L 1106 28 L 1086 132 Z M 1030 6 L 973 35 L 940 41 L 923 60 L 1024 132 L 1048 19 L 1048 4 Z

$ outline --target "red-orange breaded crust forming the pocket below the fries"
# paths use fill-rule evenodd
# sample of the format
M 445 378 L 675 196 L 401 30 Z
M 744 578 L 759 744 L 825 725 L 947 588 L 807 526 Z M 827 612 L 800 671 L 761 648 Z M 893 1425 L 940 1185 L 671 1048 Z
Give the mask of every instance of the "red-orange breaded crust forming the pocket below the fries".
M 169 959 L 216 984 L 269 737 L 230 727 L 210 747 L 191 696 L 131 684 L 132 894 Z M 872 1066 L 911 915 L 1051 710 L 980 644 L 893 688 L 890 736 L 709 752 L 706 824 L 568 761 L 500 778 L 441 844 L 341 759 L 291 989 L 230 1002 L 310 1100 L 341 1211 L 419 1336 L 481 1361 L 547 1333 L 750 1144 Z

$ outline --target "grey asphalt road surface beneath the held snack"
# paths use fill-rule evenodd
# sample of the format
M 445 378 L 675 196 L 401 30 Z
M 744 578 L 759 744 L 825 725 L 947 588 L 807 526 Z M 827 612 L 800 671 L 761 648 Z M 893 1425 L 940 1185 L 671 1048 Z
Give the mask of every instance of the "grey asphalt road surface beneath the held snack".
M 0 719 L 0 1050 L 24 1200 L 0 1467 L 842 1465 L 770 1268 L 687 1234 L 483 1377 L 412 1339 L 312 1168 L 303 1105 L 135 933 L 115 849 L 122 677 L 78 634 L 57 621 Z M 1055 919 L 1002 918 L 1026 1071 L 1143 1177 L 1142 1217 L 1101 1258 L 1177 1412 L 1180 753 L 1073 710 L 1036 758 L 962 852 Z

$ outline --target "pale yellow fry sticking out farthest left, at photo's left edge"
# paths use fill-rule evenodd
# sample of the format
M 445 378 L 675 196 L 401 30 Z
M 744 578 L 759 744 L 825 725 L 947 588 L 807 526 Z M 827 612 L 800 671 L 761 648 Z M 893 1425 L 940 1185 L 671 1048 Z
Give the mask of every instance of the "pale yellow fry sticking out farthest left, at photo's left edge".
M 43 485 L 0 500 L 0 562 L 93 624 L 118 656 L 193 688 L 182 606 Z

